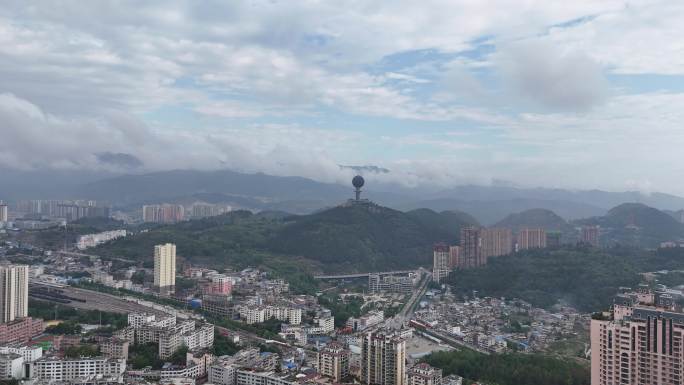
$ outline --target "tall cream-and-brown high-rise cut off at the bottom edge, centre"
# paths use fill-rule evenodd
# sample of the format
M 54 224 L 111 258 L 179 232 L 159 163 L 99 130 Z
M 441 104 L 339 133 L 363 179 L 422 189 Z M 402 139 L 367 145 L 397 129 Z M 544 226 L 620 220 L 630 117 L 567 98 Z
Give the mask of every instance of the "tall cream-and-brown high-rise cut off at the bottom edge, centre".
M 368 333 L 361 349 L 361 383 L 404 385 L 406 340 L 398 334 Z

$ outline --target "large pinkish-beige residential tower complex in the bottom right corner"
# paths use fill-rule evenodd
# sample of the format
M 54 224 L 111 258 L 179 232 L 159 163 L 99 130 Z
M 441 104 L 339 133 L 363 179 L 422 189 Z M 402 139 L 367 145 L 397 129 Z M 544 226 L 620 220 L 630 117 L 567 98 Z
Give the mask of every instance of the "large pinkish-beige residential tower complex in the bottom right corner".
M 591 320 L 591 384 L 682 384 L 683 346 L 684 313 L 672 296 L 647 287 L 618 295 Z

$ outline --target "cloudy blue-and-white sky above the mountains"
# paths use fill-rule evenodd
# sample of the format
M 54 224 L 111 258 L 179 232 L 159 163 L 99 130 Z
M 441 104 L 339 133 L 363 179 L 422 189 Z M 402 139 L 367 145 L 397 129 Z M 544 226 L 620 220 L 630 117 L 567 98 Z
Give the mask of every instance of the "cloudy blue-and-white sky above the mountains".
M 684 194 L 684 2 L 3 1 L 0 168 Z

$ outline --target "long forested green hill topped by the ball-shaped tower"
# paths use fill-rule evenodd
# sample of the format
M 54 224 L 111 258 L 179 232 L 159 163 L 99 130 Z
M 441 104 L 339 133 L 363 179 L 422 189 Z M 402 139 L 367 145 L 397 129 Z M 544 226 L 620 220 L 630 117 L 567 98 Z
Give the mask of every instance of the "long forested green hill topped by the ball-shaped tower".
M 155 244 L 212 265 L 246 266 L 304 257 L 324 271 L 372 271 L 428 265 L 435 242 L 455 243 L 460 227 L 477 222 L 460 212 L 404 213 L 381 206 L 339 206 L 311 215 L 236 211 L 160 226 L 98 248 L 99 254 L 150 260 Z

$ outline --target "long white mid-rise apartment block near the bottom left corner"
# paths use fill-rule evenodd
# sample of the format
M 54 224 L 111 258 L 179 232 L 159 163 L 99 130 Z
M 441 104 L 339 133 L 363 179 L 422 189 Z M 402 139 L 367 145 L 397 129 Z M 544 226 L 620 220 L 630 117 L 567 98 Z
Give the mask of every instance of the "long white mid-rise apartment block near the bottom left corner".
M 110 378 L 122 382 L 126 361 L 105 357 L 65 358 L 43 357 L 31 364 L 31 379 L 73 381 L 88 378 Z

